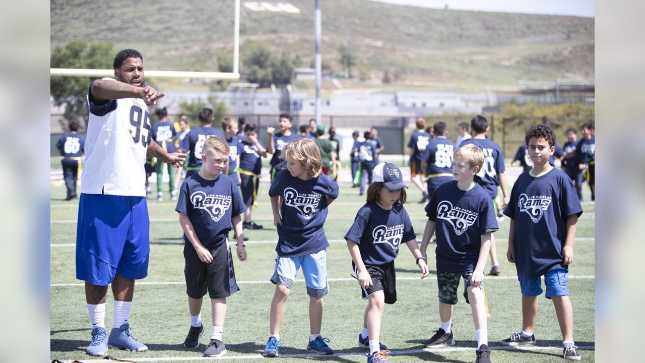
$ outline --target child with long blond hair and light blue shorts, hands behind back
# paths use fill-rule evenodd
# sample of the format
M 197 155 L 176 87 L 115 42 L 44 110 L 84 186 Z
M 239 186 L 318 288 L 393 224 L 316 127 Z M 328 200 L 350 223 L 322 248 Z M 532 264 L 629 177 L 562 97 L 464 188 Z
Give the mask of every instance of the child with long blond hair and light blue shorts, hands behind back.
M 338 198 L 338 184 L 321 174 L 321 154 L 312 140 L 299 139 L 283 149 L 287 170 L 277 174 L 271 183 L 269 196 L 273 224 L 278 232 L 275 247 L 277 258 L 271 282 L 275 293 L 271 302 L 270 335 L 264 357 L 279 357 L 280 326 L 284 318 L 286 299 L 300 267 L 309 295 L 310 336 L 307 350 L 321 355 L 333 354 L 321 337 L 323 296 L 327 295 L 327 258 L 329 242 L 323 223 L 328 206 Z

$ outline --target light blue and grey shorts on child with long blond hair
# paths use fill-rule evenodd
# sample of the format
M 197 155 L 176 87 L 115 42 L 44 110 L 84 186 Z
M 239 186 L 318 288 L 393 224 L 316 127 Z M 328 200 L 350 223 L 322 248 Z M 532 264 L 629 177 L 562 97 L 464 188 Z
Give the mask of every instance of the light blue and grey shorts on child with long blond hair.
M 275 259 L 275 271 L 271 282 L 291 289 L 298 269 L 303 267 L 304 284 L 307 285 L 307 295 L 321 298 L 329 293 L 327 284 L 327 251 L 305 254 L 297 257 L 280 257 Z

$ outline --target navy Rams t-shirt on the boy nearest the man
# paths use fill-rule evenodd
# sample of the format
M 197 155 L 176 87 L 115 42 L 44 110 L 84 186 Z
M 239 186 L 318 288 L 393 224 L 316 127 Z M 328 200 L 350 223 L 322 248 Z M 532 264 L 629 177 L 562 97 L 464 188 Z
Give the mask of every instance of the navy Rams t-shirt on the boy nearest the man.
M 213 249 L 226 242 L 232 218 L 244 213 L 246 207 L 231 178 L 219 174 L 215 180 L 206 180 L 195 173 L 181 184 L 175 211 L 186 214 L 199 242 Z M 190 243 L 188 238 L 186 243 Z

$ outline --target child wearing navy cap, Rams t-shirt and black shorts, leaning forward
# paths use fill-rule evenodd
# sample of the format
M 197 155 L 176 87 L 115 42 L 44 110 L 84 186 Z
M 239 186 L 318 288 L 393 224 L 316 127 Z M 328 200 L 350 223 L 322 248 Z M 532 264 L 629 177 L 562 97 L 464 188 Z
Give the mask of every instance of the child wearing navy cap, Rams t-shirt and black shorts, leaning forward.
M 359 347 L 370 349 L 368 363 L 386 363 L 390 351 L 379 342 L 381 316 L 385 304 L 397 301 L 394 259 L 401 242 L 417 259 L 421 278 L 428 276 L 428 265 L 421 256 L 410 216 L 403 207 L 404 188 L 407 188 L 403 173 L 392 163 L 380 163 L 373 173 L 374 182 L 368 187 L 366 204 L 359 209 L 345 239 L 362 298 L 368 300 Z

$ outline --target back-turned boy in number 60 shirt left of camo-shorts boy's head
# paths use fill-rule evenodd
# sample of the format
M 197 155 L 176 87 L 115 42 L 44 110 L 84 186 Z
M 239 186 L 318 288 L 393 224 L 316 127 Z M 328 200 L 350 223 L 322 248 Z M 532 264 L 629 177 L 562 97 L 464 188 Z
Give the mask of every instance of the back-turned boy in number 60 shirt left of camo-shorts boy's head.
M 444 121 L 438 121 L 433 126 L 435 138 L 421 155 L 421 170 L 428 181 L 428 198 L 443 183 L 452 182 L 452 158 L 455 145 L 446 138 L 448 127 Z

